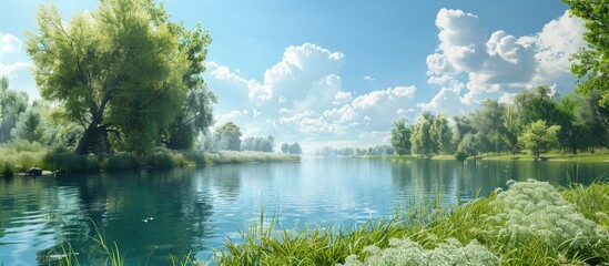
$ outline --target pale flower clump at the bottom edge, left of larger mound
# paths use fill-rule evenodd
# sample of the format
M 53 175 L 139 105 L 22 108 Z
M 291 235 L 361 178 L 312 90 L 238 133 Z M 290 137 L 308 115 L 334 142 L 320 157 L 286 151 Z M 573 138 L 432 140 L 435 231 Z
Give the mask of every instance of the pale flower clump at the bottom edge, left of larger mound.
M 486 247 L 471 241 L 467 246 L 455 238 L 448 238 L 435 249 L 425 249 L 409 239 L 389 239 L 388 248 L 367 246 L 364 262 L 351 255 L 345 259 L 345 266 L 358 265 L 496 265 L 499 258 Z

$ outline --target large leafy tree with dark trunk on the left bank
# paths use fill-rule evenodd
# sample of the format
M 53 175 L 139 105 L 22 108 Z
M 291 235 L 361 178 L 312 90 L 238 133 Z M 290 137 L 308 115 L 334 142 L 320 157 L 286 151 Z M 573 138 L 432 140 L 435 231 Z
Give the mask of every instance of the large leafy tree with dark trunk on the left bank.
M 55 7 L 41 6 L 27 51 L 42 98 L 84 130 L 77 153 L 106 152 L 115 132 L 144 154 L 181 112 L 187 57 L 170 24 L 155 23 L 161 9 L 150 0 L 100 0 L 64 22 Z

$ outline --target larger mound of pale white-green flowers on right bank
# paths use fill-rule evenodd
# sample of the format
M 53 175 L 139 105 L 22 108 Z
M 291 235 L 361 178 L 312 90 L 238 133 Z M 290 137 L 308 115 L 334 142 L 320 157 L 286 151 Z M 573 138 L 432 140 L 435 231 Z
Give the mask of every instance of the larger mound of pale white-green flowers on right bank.
M 577 212 L 547 182 L 508 182 L 489 203 L 496 211 L 485 217 L 486 233 L 511 244 L 542 241 L 549 247 L 583 249 L 605 245 L 609 232 Z M 486 227 L 486 226 L 485 226 Z

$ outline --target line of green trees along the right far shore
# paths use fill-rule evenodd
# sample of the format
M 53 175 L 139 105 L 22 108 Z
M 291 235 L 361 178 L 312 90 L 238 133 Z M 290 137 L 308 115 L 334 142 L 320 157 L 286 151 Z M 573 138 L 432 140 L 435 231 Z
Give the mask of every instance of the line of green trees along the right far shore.
M 599 104 L 600 99 L 599 93 L 560 96 L 538 86 L 517 94 L 511 104 L 487 99 L 480 109 L 451 122 L 429 112 L 414 124 L 402 119 L 392 129 L 392 145 L 398 154 L 423 157 L 521 151 L 539 157 L 552 149 L 595 152 L 609 149 L 609 109 Z

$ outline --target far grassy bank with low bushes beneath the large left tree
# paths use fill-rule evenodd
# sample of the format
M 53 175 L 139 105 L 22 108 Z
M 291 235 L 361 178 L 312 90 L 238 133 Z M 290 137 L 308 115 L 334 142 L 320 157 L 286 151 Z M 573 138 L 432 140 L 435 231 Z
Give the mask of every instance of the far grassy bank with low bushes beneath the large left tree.
M 116 152 L 104 156 L 74 154 L 64 146 L 44 147 L 38 143 L 11 143 L 0 145 L 0 176 L 13 176 L 30 167 L 62 173 L 95 173 L 100 171 L 134 170 L 140 167 L 173 168 L 185 165 L 241 164 L 268 162 L 297 162 L 298 155 L 232 152 L 171 151 L 156 149 L 140 157 Z

